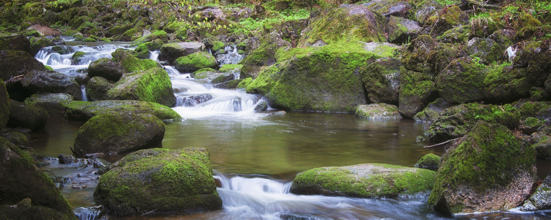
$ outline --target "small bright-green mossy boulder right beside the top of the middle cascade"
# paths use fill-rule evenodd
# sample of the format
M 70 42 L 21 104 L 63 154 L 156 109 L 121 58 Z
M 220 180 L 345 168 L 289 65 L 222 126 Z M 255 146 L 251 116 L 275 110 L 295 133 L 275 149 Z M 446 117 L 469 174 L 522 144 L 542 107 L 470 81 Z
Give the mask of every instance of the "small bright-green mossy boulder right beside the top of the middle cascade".
M 174 67 L 183 72 L 194 72 L 202 68 L 216 67 L 216 58 L 210 53 L 197 51 L 185 57 L 177 58 Z

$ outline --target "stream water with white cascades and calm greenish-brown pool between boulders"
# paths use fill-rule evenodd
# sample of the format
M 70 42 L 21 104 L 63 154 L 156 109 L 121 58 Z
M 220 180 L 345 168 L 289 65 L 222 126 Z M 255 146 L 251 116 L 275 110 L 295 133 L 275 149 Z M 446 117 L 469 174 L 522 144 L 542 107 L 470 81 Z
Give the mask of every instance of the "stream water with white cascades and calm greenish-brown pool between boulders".
M 110 58 L 116 48 L 128 43 L 68 42 L 74 51 L 86 51 L 81 63 L 71 65 L 72 54 L 48 54 L 44 48 L 37 59 L 51 63 L 58 72 L 75 76 L 77 70 L 101 57 Z M 156 60 L 159 52 L 153 51 Z M 423 149 L 417 143 L 422 124 L 412 120 L 368 120 L 350 114 L 277 111 L 255 113 L 262 97 L 242 90 L 215 89 L 204 80 L 165 66 L 176 91 L 174 110 L 184 118 L 167 122 L 165 149 L 205 147 L 210 153 L 217 190 L 223 208 L 191 213 L 150 213 L 110 219 L 450 219 L 426 206 L 426 195 L 395 199 L 358 199 L 289 193 L 295 175 L 316 167 L 348 166 L 359 163 L 388 163 L 413 166 L 426 153 L 441 155 L 441 149 Z M 83 89 L 83 94 L 85 90 Z M 200 102 L 197 97 L 203 98 Z M 268 109 L 274 110 L 274 109 Z M 75 135 L 83 122 L 51 117 L 46 129 L 33 133 L 30 146 L 38 153 L 57 157 L 71 154 Z M 118 158 L 123 155 L 119 155 Z M 117 160 L 107 158 L 109 161 Z M 544 178 L 551 167 L 538 161 L 538 175 Z M 95 219 L 102 210 L 93 200 L 98 170 L 56 160 L 42 167 L 68 178 L 62 193 L 80 219 Z M 72 189 L 72 185 L 87 185 Z M 491 212 L 458 215 L 452 219 L 551 219 L 546 212 Z

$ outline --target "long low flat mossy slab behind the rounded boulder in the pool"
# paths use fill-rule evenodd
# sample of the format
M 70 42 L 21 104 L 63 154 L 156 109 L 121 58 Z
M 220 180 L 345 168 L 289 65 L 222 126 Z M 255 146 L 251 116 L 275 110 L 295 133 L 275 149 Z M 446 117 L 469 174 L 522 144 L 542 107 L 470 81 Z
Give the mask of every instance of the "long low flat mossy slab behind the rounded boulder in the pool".
M 161 120 L 180 119 L 180 114 L 172 108 L 154 102 L 136 100 L 103 100 L 95 102 L 74 101 L 67 105 L 65 118 L 87 121 L 105 113 L 127 112 L 132 114 L 152 114 Z

